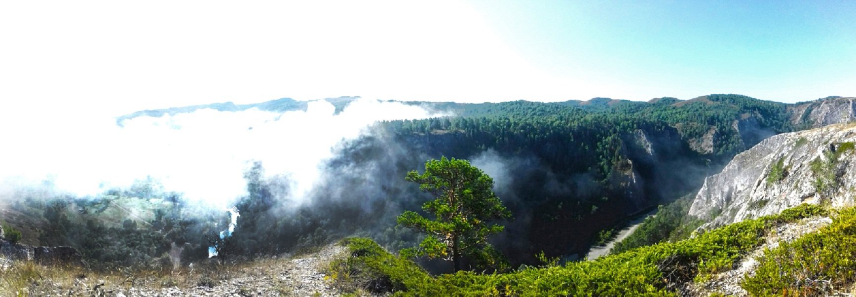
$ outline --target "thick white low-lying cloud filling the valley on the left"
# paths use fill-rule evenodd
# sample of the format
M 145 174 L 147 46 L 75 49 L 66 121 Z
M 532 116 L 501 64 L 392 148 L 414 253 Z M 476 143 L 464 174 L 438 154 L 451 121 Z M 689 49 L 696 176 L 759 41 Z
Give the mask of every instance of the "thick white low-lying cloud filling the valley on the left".
M 358 99 L 342 110 L 323 100 L 284 113 L 196 110 L 139 116 L 116 125 L 110 116 L 18 128 L 0 155 L 0 199 L 21 189 L 96 196 L 135 181 L 222 207 L 247 194 L 253 162 L 265 177 L 287 176 L 288 199 L 306 202 L 337 144 L 367 134 L 372 123 L 442 116 L 419 106 Z M 51 120 L 45 120 L 50 122 Z

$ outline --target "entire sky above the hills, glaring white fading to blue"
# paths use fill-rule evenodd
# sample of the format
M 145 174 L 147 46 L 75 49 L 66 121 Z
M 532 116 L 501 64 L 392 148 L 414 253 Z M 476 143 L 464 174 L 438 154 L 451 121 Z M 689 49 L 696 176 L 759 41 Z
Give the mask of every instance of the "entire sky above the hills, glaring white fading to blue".
M 4 1 L 0 116 L 338 96 L 856 96 L 856 1 Z

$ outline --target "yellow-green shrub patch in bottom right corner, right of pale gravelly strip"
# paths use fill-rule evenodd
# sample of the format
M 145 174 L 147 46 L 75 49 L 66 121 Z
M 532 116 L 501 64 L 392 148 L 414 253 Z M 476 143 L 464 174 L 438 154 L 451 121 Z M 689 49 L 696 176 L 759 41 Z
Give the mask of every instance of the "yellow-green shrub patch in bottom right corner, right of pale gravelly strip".
M 756 296 L 814 296 L 856 281 L 856 209 L 815 233 L 767 249 L 740 285 Z

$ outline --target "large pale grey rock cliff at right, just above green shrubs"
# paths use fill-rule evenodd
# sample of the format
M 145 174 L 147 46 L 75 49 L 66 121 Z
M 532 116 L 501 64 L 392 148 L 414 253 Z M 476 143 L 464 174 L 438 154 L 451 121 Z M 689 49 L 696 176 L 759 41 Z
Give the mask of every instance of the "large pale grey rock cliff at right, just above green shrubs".
M 823 118 L 830 117 L 818 119 Z M 709 229 L 801 203 L 853 205 L 856 170 L 848 168 L 856 164 L 854 142 L 853 123 L 772 136 L 707 177 L 689 214 L 704 219 L 702 228 Z

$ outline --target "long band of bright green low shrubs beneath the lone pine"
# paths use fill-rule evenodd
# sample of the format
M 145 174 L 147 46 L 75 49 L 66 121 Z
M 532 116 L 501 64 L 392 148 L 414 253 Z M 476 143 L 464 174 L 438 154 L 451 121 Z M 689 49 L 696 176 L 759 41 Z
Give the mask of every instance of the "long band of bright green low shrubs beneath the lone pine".
M 682 283 L 704 281 L 732 269 L 776 226 L 826 215 L 828 211 L 820 206 L 800 205 L 685 241 L 640 247 L 590 262 L 493 274 L 459 271 L 431 276 L 412 260 L 390 254 L 371 240 L 352 238 L 342 241 L 351 257 L 331 263 L 330 278 L 348 293 L 401 296 L 672 296 Z

